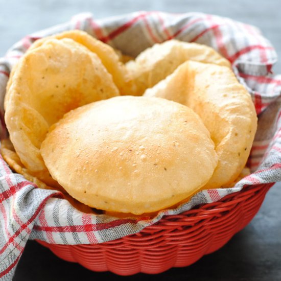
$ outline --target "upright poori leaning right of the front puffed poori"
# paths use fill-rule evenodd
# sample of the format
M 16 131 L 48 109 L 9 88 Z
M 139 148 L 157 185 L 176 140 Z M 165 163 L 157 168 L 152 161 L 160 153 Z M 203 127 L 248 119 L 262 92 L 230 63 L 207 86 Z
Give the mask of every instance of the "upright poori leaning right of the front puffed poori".
M 144 96 L 184 104 L 200 116 L 219 157 L 204 189 L 220 188 L 238 177 L 249 157 L 257 117 L 250 94 L 230 68 L 186 61 L 165 80 L 147 89 Z

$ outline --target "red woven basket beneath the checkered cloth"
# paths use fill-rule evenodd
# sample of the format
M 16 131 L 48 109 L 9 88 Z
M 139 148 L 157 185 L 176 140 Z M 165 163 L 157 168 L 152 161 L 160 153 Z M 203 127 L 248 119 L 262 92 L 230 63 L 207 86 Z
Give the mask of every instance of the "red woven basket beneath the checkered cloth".
M 156 274 L 185 267 L 225 245 L 262 205 L 273 183 L 246 187 L 218 202 L 197 206 L 118 240 L 93 245 L 57 245 L 37 241 L 58 257 L 92 271 L 119 275 Z

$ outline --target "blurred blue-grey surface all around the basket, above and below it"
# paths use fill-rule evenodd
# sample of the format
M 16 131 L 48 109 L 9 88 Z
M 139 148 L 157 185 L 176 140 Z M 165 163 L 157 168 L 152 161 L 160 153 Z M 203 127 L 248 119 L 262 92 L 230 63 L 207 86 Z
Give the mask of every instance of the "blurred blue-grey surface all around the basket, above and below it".
M 0 56 L 20 38 L 34 31 L 68 21 L 74 14 L 91 12 L 94 17 L 139 10 L 204 12 L 231 17 L 259 27 L 281 56 L 281 2 L 279 0 L 0 0 Z M 274 67 L 281 74 L 281 63 Z M 173 268 L 157 276 L 137 274 L 121 277 L 97 273 L 58 259 L 48 249 L 30 241 L 17 267 L 14 280 L 281 280 L 281 184 L 275 184 L 251 223 L 219 251 L 196 264 Z

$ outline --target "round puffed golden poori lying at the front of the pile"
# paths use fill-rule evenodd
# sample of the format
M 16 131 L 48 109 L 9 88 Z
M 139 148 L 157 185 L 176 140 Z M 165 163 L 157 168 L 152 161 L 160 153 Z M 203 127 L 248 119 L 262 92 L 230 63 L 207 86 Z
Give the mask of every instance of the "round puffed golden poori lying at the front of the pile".
M 72 110 L 50 128 L 40 152 L 80 202 L 135 215 L 190 196 L 217 166 L 199 116 L 160 98 L 122 96 Z

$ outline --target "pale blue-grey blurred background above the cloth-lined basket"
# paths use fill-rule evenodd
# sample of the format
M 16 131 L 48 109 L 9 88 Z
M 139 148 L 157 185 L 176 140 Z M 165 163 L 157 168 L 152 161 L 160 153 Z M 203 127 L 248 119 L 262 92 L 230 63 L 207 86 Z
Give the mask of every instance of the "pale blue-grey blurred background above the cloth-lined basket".
M 0 56 L 26 34 L 68 21 L 76 13 L 89 11 L 101 18 L 139 10 L 231 17 L 259 27 L 281 56 L 279 0 L 0 0 L 0 5 Z M 281 73 L 281 63 L 273 70 Z

